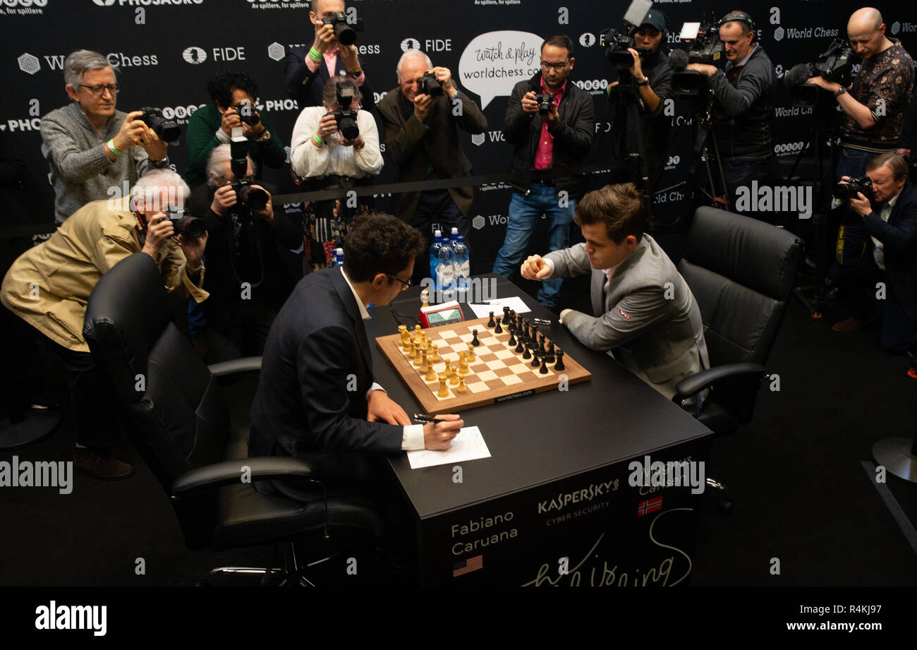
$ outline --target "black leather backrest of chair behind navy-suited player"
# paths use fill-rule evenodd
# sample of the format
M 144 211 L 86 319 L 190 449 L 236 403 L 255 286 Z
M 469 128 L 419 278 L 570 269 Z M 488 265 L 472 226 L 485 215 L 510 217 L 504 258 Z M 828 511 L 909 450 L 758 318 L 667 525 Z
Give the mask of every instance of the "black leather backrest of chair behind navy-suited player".
M 215 378 L 170 321 L 175 306 L 156 263 L 139 252 L 102 276 L 83 322 L 127 433 L 167 493 L 185 471 L 223 460 L 229 428 Z

